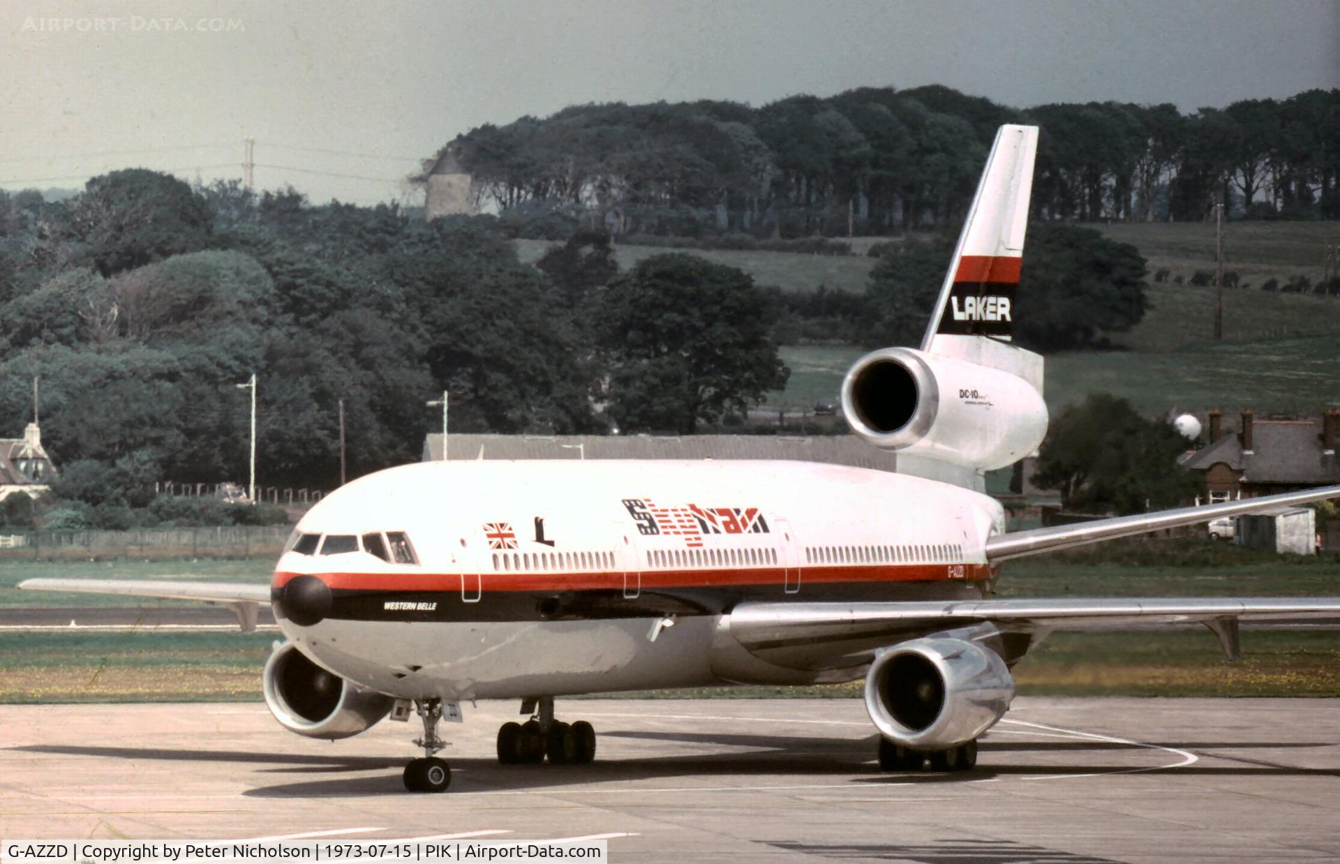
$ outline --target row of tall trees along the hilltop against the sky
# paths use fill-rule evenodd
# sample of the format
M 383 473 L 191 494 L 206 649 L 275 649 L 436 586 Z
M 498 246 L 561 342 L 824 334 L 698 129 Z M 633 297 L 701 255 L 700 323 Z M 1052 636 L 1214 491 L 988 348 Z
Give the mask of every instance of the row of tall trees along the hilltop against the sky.
M 525 236 L 891 234 L 957 224 L 1001 123 L 1043 135 L 1033 217 L 1340 218 L 1340 90 L 1172 104 L 1026 110 L 943 86 L 862 87 L 753 109 L 734 102 L 584 104 L 449 142 L 476 202 Z M 426 175 L 418 177 L 426 181 Z

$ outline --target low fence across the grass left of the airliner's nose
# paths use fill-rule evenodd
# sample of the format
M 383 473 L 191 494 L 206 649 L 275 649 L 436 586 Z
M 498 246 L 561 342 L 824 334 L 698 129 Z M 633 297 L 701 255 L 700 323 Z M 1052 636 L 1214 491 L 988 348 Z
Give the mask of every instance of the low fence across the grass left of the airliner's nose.
M 288 525 L 46 530 L 0 537 L 0 561 L 88 559 L 277 557 Z

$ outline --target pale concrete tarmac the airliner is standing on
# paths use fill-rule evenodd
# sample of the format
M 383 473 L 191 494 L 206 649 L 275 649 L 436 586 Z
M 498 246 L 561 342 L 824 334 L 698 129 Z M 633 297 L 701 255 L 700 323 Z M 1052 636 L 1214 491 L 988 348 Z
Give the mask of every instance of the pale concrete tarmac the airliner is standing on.
M 586 766 L 498 766 L 464 706 L 335 743 L 263 705 L 0 706 L 0 837 L 603 837 L 610 860 L 1340 860 L 1340 699 L 1018 698 L 962 774 L 880 774 L 856 699 L 567 699 Z

